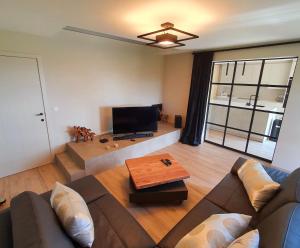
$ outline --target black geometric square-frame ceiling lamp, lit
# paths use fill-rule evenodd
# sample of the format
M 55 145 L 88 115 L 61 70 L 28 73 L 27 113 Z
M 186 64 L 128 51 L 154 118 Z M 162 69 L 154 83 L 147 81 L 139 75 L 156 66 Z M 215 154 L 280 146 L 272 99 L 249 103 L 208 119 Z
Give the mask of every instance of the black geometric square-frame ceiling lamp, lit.
M 185 46 L 182 41 L 199 38 L 195 34 L 174 28 L 174 24 L 166 22 L 161 24 L 163 29 L 137 36 L 140 39 L 151 41 L 148 46 L 159 47 L 162 49 Z

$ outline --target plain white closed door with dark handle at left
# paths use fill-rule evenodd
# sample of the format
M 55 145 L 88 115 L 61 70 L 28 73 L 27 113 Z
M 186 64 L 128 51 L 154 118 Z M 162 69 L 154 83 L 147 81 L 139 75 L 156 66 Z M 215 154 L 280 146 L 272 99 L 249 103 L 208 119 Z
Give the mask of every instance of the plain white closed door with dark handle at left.
M 49 161 L 37 60 L 0 55 L 0 177 Z

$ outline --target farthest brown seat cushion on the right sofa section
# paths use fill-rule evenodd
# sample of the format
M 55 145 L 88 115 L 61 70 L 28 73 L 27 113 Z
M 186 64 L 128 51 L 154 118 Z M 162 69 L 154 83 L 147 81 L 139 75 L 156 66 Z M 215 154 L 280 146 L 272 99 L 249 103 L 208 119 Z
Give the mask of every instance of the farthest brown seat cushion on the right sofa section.
M 243 183 L 233 174 L 227 174 L 205 198 L 226 212 L 251 216 L 256 213 L 249 201 Z

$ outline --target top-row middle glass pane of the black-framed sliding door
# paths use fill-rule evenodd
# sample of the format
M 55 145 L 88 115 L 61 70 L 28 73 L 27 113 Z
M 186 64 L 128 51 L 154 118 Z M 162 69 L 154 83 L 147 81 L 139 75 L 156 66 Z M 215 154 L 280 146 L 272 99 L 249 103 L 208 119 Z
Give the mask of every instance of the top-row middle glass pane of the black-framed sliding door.
M 258 84 L 262 61 L 239 61 L 237 63 L 234 83 Z

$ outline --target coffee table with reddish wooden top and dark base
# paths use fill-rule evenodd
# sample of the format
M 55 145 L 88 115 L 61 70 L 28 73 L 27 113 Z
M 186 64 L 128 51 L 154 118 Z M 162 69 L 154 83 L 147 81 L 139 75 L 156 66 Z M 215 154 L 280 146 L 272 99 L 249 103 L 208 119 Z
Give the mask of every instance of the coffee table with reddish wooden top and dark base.
M 162 159 L 168 159 L 171 165 L 165 165 Z M 130 175 L 130 202 L 180 204 L 187 199 L 188 190 L 183 179 L 190 175 L 171 155 L 128 159 L 125 163 Z

